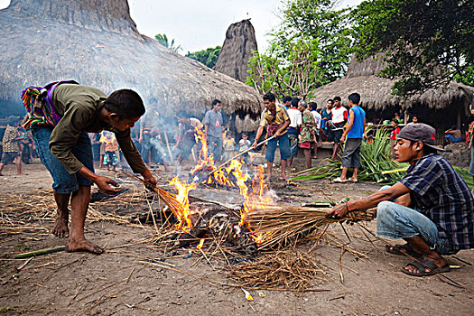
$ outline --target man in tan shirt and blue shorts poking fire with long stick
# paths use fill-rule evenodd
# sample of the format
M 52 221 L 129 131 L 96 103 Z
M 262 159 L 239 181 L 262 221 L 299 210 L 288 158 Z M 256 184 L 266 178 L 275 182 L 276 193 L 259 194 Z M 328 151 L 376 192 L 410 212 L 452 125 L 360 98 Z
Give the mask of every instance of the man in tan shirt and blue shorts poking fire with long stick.
M 276 151 L 276 145 L 280 145 L 280 159 L 282 161 L 282 179 L 286 179 L 286 160 L 290 158 L 290 142 L 288 140 L 288 133 L 286 133 L 286 128 L 290 125 L 290 117 L 284 109 L 275 105 L 274 94 L 268 92 L 264 96 L 265 110 L 262 113 L 262 120 L 260 121 L 260 126 L 256 131 L 256 140 L 252 147 L 255 147 L 258 139 L 264 134 L 264 128 L 266 126 L 266 136 L 276 137 L 269 141 L 266 146 L 266 166 L 267 166 L 267 176 L 266 180 L 270 181 L 272 179 L 272 169 L 274 166 L 274 152 Z

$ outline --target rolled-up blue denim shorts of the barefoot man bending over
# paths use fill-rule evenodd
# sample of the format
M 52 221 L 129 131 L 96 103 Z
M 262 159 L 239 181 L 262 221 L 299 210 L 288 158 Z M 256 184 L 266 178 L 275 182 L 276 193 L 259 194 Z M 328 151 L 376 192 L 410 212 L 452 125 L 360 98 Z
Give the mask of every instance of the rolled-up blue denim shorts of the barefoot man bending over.
M 51 127 L 35 126 L 32 129 L 33 142 L 36 152 L 42 163 L 48 169 L 52 177 L 52 189 L 58 193 L 72 193 L 79 190 L 79 185 L 91 186 L 88 181 L 79 173 L 68 172 L 50 151 Z M 92 155 L 92 145 L 87 133 L 81 133 L 78 142 L 72 147 L 72 153 L 84 164 L 88 170 L 94 172 L 94 158 Z

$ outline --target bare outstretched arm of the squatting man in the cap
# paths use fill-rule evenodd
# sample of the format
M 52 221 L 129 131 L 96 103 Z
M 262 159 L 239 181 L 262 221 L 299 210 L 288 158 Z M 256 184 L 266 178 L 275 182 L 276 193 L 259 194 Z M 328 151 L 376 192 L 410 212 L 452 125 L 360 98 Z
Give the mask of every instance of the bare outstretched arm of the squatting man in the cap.
M 332 218 L 332 217 L 343 218 L 349 213 L 349 211 L 359 210 L 359 209 L 371 209 L 371 208 L 376 207 L 378 203 L 384 200 L 395 200 L 408 193 L 410 193 L 410 189 L 405 187 L 404 184 L 402 184 L 401 182 L 396 182 L 392 187 L 386 190 L 377 191 L 376 193 L 370 194 L 366 198 L 339 204 L 335 208 L 331 209 L 326 214 L 326 217 L 327 218 Z M 399 203 L 399 204 L 402 204 L 402 203 Z

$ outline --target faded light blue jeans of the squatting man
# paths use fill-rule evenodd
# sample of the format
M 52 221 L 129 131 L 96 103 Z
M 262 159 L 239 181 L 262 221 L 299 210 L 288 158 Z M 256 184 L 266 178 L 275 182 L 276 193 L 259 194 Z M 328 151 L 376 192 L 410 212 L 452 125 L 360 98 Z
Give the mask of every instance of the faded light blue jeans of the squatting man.
M 450 239 L 439 236 L 438 228 L 430 218 L 415 209 L 395 202 L 378 203 L 376 235 L 394 239 L 422 237 L 432 250 L 441 255 L 452 255 L 458 252 L 451 246 Z

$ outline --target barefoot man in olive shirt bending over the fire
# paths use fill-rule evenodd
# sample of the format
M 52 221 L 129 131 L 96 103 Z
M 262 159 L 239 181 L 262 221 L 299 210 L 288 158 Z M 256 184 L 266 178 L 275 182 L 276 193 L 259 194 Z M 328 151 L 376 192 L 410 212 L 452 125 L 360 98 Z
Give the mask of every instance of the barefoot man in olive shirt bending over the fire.
M 84 237 L 90 186 L 96 183 L 107 194 L 116 194 L 121 189 L 115 181 L 94 173 L 86 132 L 114 132 L 132 170 L 141 173 L 145 181 L 156 184 L 130 138 L 130 128 L 145 112 L 142 98 L 129 89 L 116 90 L 107 98 L 98 88 L 80 86 L 75 81 L 53 82 L 44 88 L 29 87 L 23 91 L 22 98 L 27 111 L 23 126 L 32 130 L 36 150 L 53 180 L 58 207 L 53 234 L 69 236 L 66 251 L 102 253 L 99 246 Z

